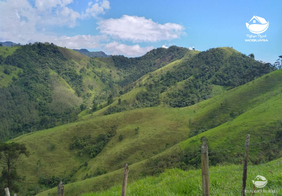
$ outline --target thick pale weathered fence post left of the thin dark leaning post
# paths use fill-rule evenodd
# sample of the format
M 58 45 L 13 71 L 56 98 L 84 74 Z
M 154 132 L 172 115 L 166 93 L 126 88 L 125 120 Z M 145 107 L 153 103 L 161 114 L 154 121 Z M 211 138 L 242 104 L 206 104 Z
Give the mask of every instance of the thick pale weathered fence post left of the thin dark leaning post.
M 210 196 L 208 146 L 205 142 L 202 144 L 201 153 L 203 196 Z

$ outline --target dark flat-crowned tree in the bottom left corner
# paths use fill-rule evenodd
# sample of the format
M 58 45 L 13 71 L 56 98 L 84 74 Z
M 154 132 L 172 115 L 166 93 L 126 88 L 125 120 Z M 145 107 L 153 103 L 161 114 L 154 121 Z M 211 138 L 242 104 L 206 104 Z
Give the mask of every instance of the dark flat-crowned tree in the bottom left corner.
M 14 167 L 21 154 L 26 157 L 29 155 L 25 144 L 15 142 L 0 143 L 0 167 L 3 168 L 0 177 L 1 182 L 2 185 L 14 191 L 17 190 L 17 182 L 21 181 L 21 178 L 17 175 L 16 168 Z

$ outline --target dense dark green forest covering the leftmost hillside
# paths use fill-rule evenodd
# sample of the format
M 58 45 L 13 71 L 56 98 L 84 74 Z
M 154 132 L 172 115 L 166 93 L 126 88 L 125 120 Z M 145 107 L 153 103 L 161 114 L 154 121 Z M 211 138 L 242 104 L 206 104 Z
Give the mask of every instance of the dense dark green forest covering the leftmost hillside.
M 0 88 L 1 138 L 31 132 L 32 128 L 53 127 L 70 116 L 76 118 L 80 111 L 75 108 L 65 110 L 52 106 L 54 91 L 50 72 L 56 72 L 65 79 L 78 97 L 83 92 L 82 77 L 76 72 L 74 62 L 63 56 L 57 46 L 27 44 L 8 55 L 2 64 L 16 66 L 23 72 L 18 71 L 8 87 Z M 57 109 L 52 110 L 54 107 Z

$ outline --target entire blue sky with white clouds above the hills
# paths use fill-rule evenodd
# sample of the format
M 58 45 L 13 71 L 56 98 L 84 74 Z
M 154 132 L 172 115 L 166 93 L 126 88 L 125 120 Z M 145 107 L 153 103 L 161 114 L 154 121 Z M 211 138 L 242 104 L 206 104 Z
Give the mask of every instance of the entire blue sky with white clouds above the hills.
M 268 21 L 267 41 L 248 42 L 253 16 Z M 252 22 L 252 21 L 251 21 Z M 251 24 L 251 23 L 249 23 Z M 205 51 L 229 46 L 256 60 L 282 55 L 282 0 L 1 0 L 0 41 L 54 43 L 136 57 L 171 45 Z

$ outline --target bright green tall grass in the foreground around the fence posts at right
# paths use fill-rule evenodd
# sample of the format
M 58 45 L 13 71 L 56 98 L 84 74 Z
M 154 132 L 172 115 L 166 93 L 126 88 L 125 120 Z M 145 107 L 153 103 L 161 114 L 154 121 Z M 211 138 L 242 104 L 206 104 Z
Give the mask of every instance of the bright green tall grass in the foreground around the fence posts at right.
M 273 193 L 258 193 L 255 195 L 282 195 L 282 159 L 271 161 L 268 164 L 252 166 L 249 164 L 245 190 L 274 190 Z M 240 195 L 242 186 L 242 166 L 212 166 L 209 168 L 211 195 Z M 268 180 L 264 188 L 256 188 L 252 180 L 262 175 Z M 130 178 L 130 168 L 129 176 Z M 127 184 L 126 195 L 155 196 L 155 195 L 202 195 L 201 170 L 183 171 L 169 169 L 159 176 L 150 176 Z M 106 191 L 87 193 L 82 196 L 118 196 L 121 186 L 114 186 Z M 250 195 L 246 194 L 246 195 Z

